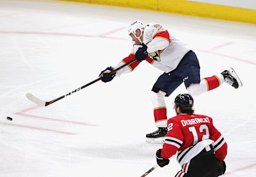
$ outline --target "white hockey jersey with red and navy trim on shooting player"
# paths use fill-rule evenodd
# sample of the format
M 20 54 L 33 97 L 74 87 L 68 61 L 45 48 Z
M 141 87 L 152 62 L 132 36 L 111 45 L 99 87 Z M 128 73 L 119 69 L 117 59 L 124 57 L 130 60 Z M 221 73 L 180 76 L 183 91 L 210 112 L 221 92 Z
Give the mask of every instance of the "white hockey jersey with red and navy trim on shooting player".
M 165 73 L 169 73 L 177 68 L 184 55 L 191 50 L 185 43 L 171 36 L 163 26 L 157 23 L 150 23 L 150 25 L 146 26 L 143 32 L 143 43 L 147 45 L 148 53 L 159 52 L 157 60 L 147 57 L 146 61 L 157 69 L 165 71 Z M 141 45 L 133 45 L 130 55 L 119 62 L 117 66 L 114 66 L 114 68 L 118 68 L 124 65 L 124 63 L 133 60 L 135 53 L 140 47 Z M 130 73 L 139 63 L 139 61 L 135 61 L 122 68 L 117 71 L 116 76 Z

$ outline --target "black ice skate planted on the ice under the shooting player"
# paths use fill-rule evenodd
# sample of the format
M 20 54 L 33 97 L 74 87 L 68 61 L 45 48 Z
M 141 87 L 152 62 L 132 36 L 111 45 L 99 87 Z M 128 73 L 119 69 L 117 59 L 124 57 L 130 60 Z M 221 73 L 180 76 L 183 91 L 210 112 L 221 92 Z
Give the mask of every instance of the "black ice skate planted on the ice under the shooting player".
M 146 142 L 164 143 L 164 136 L 167 134 L 167 127 L 158 127 L 155 132 L 146 134 Z

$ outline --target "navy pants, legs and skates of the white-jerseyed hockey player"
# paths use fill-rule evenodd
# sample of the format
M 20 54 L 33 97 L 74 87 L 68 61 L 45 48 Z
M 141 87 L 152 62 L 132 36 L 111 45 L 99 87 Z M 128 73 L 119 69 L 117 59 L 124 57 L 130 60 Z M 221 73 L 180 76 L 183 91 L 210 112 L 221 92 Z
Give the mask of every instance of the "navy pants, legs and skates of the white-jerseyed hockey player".
M 151 102 L 154 108 L 154 118 L 157 130 L 146 135 L 146 141 L 151 143 L 163 143 L 167 133 L 167 116 L 164 97 L 169 96 L 177 87 L 185 83 L 188 93 L 200 95 L 213 90 L 223 83 L 233 86 L 235 89 L 242 86 L 233 68 L 225 70 L 212 77 L 200 79 L 200 66 L 196 54 L 189 51 L 181 60 L 178 67 L 170 73 L 164 73 L 157 79 L 151 91 Z

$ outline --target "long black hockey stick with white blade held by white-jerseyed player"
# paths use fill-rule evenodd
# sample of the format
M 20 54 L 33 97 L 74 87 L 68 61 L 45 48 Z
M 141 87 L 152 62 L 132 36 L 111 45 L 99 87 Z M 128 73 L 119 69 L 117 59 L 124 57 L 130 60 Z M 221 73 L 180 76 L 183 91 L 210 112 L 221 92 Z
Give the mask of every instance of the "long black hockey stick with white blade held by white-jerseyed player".
M 134 62 L 135 60 L 136 60 L 136 59 L 133 59 L 133 60 L 131 60 L 131 61 L 125 63 L 125 64 L 122 65 L 121 67 L 118 67 L 118 68 L 114 69 L 113 71 L 111 71 L 109 74 L 114 74 L 114 73 L 116 73 L 118 70 L 120 70 L 120 69 L 126 67 L 127 65 L 130 65 L 130 64 L 131 64 L 132 62 Z M 52 103 L 54 103 L 54 102 L 56 102 L 56 101 L 61 100 L 62 98 L 65 98 L 65 97 L 68 96 L 68 95 L 71 95 L 71 94 L 73 94 L 73 93 L 75 93 L 75 92 L 78 92 L 78 91 L 84 89 L 85 87 L 87 87 L 87 86 L 89 86 L 89 85 L 92 85 L 92 84 L 94 84 L 95 82 L 98 82 L 98 81 L 100 81 L 100 77 L 97 78 L 97 79 L 95 79 L 94 81 L 92 81 L 92 82 L 90 82 L 90 83 L 88 83 L 88 84 L 82 86 L 82 87 L 79 87 L 78 89 L 74 90 L 73 92 L 69 92 L 68 94 L 62 95 L 62 96 L 60 96 L 59 98 L 54 99 L 54 100 L 52 100 L 52 101 L 43 101 L 43 100 L 37 98 L 36 96 L 34 96 L 34 95 L 31 94 L 31 93 L 27 93 L 27 94 L 26 94 L 26 97 L 27 97 L 27 99 L 29 99 L 30 101 L 32 101 L 32 102 L 38 104 L 39 106 L 44 106 L 44 107 L 45 107 L 45 106 L 48 106 L 49 104 L 52 104 Z

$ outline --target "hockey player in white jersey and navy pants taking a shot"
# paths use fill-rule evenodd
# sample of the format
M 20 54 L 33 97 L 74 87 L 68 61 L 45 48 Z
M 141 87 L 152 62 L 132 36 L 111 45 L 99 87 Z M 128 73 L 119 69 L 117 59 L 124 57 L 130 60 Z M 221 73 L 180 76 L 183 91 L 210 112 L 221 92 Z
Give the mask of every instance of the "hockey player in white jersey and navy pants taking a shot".
M 242 82 L 232 68 L 212 77 L 201 79 L 196 54 L 185 43 L 171 36 L 169 31 L 158 23 L 150 23 L 146 26 L 141 21 L 134 21 L 129 27 L 128 35 L 134 42 L 130 55 L 116 66 L 101 71 L 100 76 L 102 82 L 109 82 L 115 76 L 130 73 L 143 60 L 164 71 L 151 90 L 157 130 L 146 135 L 147 142 L 163 142 L 163 136 L 167 133 L 164 96 L 169 96 L 181 83 L 185 83 L 186 89 L 191 95 L 210 91 L 222 83 L 228 83 L 235 89 L 242 86 Z M 136 61 L 130 65 L 118 70 L 115 74 L 109 74 L 110 71 L 134 58 Z

